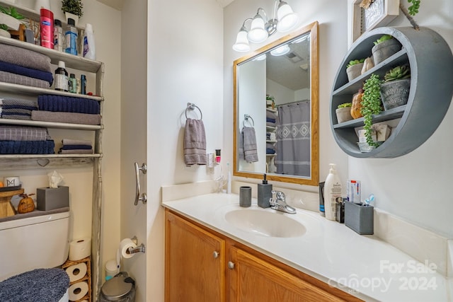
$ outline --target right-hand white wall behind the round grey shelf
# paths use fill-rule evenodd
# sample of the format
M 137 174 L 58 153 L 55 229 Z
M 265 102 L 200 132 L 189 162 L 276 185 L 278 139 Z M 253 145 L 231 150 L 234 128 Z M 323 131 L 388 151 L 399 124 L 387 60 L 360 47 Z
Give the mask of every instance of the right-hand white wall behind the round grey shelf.
M 401 3 L 408 7 L 407 1 Z M 415 21 L 437 31 L 452 48 L 452 16 L 452 1 L 422 1 Z M 389 25 L 411 26 L 402 15 Z M 379 209 L 452 238 L 453 202 L 449 192 L 453 178 L 453 141 L 449 139 L 452 127 L 450 106 L 437 131 L 418 149 L 392 159 L 349 158 L 349 177 L 362 180 L 362 196 L 373 192 Z

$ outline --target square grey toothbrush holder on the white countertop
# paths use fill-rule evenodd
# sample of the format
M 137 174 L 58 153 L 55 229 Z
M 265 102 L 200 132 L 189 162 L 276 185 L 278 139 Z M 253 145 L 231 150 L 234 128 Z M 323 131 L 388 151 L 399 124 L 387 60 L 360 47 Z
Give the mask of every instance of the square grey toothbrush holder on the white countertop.
M 345 225 L 360 235 L 374 233 L 374 208 L 345 202 Z

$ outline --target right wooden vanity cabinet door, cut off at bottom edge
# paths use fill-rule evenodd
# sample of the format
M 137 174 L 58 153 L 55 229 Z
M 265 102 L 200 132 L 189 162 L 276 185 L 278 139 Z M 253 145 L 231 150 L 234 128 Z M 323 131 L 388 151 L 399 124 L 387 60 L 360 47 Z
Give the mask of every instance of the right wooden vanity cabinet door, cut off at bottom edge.
M 238 248 L 229 247 L 228 267 L 230 302 L 344 301 Z

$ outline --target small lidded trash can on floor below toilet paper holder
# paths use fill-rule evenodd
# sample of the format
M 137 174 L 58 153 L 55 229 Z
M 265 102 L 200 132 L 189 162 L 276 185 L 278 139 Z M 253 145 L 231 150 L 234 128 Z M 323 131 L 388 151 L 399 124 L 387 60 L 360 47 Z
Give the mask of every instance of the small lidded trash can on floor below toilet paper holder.
M 119 272 L 115 277 L 105 281 L 99 294 L 100 302 L 134 302 L 135 281 L 127 272 Z

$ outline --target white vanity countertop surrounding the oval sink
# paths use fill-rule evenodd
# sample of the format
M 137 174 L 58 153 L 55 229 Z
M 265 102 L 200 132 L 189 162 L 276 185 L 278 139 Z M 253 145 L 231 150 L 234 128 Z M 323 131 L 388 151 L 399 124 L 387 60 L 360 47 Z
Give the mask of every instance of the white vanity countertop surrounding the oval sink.
M 365 301 L 445 302 L 449 279 L 374 236 L 360 236 L 344 223 L 328 221 L 319 213 L 297 209 L 285 214 L 239 207 L 238 194 L 204 194 L 163 202 L 162 205 L 265 255 L 338 287 Z M 306 232 L 294 238 L 276 238 L 243 231 L 225 220 L 231 209 L 256 209 L 290 216 Z M 450 281 L 451 282 L 451 281 Z

